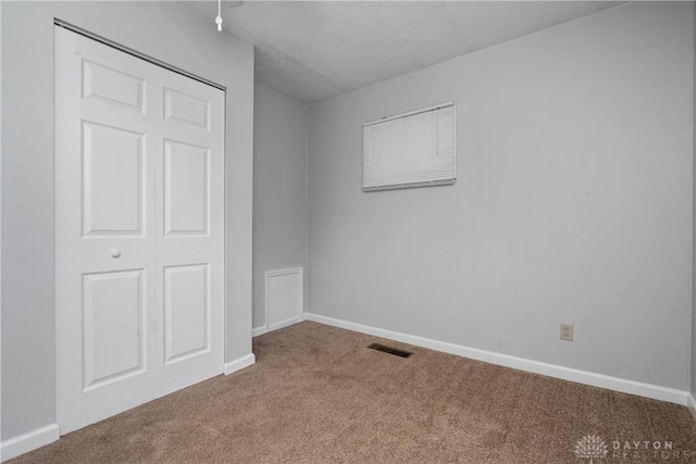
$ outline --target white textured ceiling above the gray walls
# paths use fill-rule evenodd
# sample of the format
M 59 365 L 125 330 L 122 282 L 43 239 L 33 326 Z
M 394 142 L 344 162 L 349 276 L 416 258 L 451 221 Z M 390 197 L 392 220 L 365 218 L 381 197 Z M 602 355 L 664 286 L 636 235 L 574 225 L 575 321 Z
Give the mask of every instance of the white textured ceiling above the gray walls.
M 214 27 L 216 1 L 182 3 Z M 254 46 L 256 80 L 309 104 L 622 2 L 239 3 L 223 2 L 223 27 Z

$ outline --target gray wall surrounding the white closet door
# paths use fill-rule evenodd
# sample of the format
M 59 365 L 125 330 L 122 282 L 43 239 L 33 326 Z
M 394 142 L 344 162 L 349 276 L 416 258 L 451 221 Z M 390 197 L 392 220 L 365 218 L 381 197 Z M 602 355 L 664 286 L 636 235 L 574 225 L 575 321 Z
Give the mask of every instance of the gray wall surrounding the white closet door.
M 53 18 L 227 87 L 227 361 L 251 353 L 253 50 L 174 2 L 0 4 L 7 440 L 55 421 Z

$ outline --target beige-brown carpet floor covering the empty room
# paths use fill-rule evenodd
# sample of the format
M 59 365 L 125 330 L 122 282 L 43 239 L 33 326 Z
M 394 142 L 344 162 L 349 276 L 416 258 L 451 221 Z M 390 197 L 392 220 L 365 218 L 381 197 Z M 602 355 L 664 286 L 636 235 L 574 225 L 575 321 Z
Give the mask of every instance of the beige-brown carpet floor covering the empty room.
M 365 348 L 375 341 L 414 354 Z M 251 367 L 11 463 L 696 463 L 684 406 L 310 322 L 253 352 Z M 588 435 L 606 448 L 581 442 L 577 457 Z

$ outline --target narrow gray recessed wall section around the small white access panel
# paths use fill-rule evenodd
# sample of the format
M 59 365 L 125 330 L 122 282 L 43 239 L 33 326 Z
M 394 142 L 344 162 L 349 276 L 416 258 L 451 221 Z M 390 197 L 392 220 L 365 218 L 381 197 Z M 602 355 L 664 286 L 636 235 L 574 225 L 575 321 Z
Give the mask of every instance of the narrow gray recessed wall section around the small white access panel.
M 253 327 L 266 323 L 265 272 L 298 266 L 307 272 L 308 121 L 306 104 L 256 85 Z

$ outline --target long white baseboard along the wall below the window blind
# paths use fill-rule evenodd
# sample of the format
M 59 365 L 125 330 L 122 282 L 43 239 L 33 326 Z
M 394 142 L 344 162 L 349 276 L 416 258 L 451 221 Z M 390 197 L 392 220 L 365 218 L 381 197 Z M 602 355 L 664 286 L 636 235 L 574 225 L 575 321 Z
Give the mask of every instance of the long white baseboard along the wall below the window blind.
M 490 364 L 512 367 L 520 371 L 526 371 L 534 374 L 542 374 L 549 377 L 556 377 L 563 380 L 575 381 L 577 384 L 591 385 L 593 387 L 607 388 L 609 390 L 621 391 L 624 393 L 637 394 L 641 397 L 652 398 L 661 401 L 669 401 L 681 405 L 687 405 L 687 391 L 676 390 L 674 388 L 661 387 L 659 385 L 643 384 L 635 380 L 611 377 L 604 374 L 596 374 L 587 371 L 563 367 L 556 364 L 543 363 L 539 361 L 526 360 L 523 358 L 511 356 L 508 354 L 495 353 L 493 351 L 480 350 L 477 348 L 464 347 L 461 344 L 448 343 L 446 341 L 433 340 L 430 338 L 418 337 L 408 334 L 386 330 L 377 327 L 370 327 L 362 324 L 350 323 L 346 321 L 335 319 L 319 314 L 304 313 L 304 321 L 313 321 L 321 324 L 340 327 L 348 330 L 355 330 L 375 337 L 382 337 L 390 340 L 401 341 L 403 343 L 417 347 L 428 348 L 435 351 L 456 354 L 472 360 L 484 361 Z M 693 397 L 692 397 L 693 400 Z

